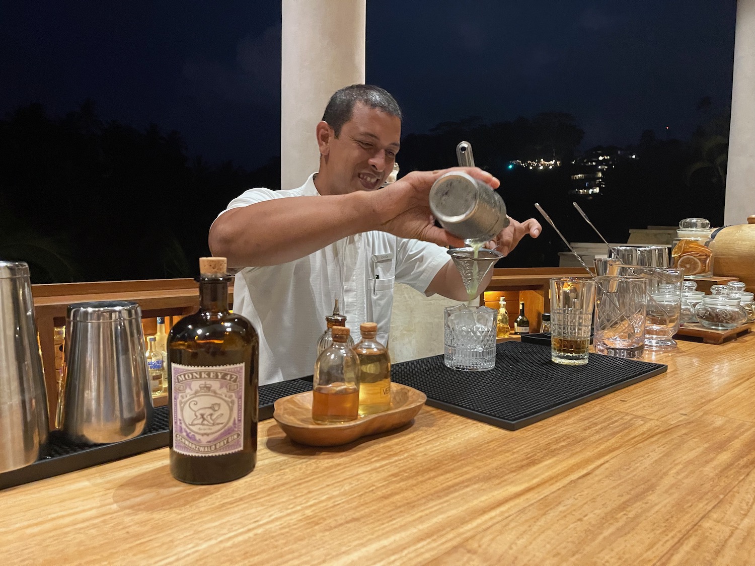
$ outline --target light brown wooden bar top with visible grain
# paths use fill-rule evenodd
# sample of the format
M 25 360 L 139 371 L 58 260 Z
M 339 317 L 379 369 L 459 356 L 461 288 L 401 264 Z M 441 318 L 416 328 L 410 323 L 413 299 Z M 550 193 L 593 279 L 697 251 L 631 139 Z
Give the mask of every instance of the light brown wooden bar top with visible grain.
M 518 431 L 424 408 L 307 448 L 266 420 L 227 484 L 175 481 L 162 449 L 11 488 L 3 564 L 755 564 L 755 335 L 679 344 Z

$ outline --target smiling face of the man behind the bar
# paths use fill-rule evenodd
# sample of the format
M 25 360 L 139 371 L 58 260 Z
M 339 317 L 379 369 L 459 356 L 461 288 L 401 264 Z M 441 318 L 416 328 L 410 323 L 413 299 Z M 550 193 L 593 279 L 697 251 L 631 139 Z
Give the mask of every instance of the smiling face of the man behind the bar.
M 400 139 L 399 118 L 356 103 L 352 118 L 338 137 L 331 135 L 327 153 L 323 154 L 330 192 L 345 194 L 379 188 L 393 171 Z

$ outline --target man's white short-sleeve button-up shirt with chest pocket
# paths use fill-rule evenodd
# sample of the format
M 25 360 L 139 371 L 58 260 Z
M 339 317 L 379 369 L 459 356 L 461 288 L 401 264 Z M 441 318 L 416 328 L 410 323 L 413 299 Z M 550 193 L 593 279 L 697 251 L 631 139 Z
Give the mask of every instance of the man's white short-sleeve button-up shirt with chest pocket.
M 319 195 L 313 179 L 310 175 L 297 189 L 249 189 L 226 210 L 273 198 Z M 424 293 L 447 262 L 446 248 L 374 231 L 343 238 L 288 263 L 245 267 L 233 285 L 233 312 L 248 318 L 260 335 L 260 385 L 313 373 L 317 341 L 336 299 L 355 342 L 359 325 L 372 321 L 377 323 L 377 340 L 387 344 L 394 282 Z

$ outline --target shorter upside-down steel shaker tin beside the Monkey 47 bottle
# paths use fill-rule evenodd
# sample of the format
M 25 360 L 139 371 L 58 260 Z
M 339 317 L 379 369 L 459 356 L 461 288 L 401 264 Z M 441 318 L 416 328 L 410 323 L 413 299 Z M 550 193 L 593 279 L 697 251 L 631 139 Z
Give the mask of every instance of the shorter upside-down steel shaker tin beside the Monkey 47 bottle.
M 63 432 L 85 444 L 140 435 L 152 417 L 141 309 L 131 301 L 66 311 Z

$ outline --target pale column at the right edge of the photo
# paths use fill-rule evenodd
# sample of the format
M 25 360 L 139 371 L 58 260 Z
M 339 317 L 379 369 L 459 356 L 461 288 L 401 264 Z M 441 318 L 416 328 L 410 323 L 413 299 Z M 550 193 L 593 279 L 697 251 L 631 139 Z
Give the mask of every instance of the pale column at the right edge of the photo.
M 755 214 L 755 0 L 737 0 L 725 224 Z

